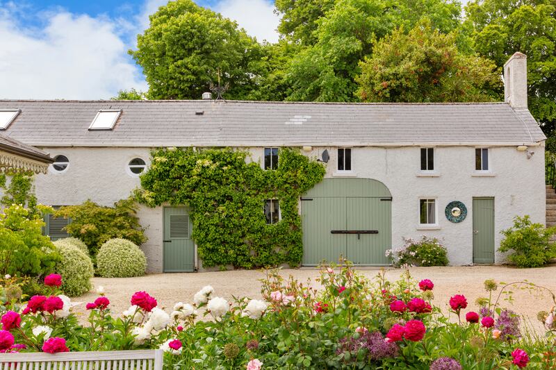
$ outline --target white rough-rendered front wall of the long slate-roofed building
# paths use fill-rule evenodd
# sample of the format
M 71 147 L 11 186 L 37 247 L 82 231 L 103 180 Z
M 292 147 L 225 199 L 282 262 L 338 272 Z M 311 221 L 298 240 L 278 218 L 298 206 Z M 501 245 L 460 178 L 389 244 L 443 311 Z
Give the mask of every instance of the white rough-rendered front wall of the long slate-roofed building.
M 126 165 L 132 158 L 149 162 L 148 148 L 42 148 L 53 157 L 64 154 L 70 166 L 61 174 L 38 175 L 36 194 L 41 203 L 49 205 L 79 204 L 91 199 L 102 205 L 112 205 L 126 198 L 140 185 L 131 176 Z M 357 176 L 382 181 L 393 196 L 392 240 L 401 246 L 403 237 L 430 235 L 443 239 L 448 247 L 452 264 L 473 262 L 473 196 L 495 198 L 496 248 L 500 244 L 500 230 L 512 225 L 515 215 L 530 215 L 532 221 L 545 222 L 544 149 L 535 151 L 528 160 L 516 147 L 491 148 L 491 174 L 475 174 L 475 147 L 438 147 L 435 150 L 434 177 L 420 174 L 418 147 L 354 148 L 352 173 L 336 171 L 336 148 L 313 148 L 306 155 L 318 158 L 324 149 L 331 154 L 327 164 L 327 177 Z M 263 162 L 263 148 L 252 148 L 252 160 Z M 439 226 L 421 228 L 418 225 L 420 197 L 437 200 Z M 452 224 L 444 217 L 444 208 L 450 201 L 461 201 L 468 208 L 468 217 Z M 139 216 L 146 228 L 149 241 L 142 245 L 149 262 L 149 272 L 161 272 L 163 266 L 163 212 L 162 208 L 141 207 Z M 497 253 L 496 262 L 502 262 Z

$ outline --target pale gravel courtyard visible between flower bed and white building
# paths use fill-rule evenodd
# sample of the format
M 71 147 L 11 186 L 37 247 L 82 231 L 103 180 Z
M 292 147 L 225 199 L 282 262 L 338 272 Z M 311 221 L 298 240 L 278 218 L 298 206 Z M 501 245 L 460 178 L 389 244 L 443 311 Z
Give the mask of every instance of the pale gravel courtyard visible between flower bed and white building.
M 368 278 L 373 278 L 380 269 L 360 268 L 358 271 Z M 483 282 L 494 279 L 497 282 L 512 283 L 514 281 L 528 280 L 530 283 L 543 285 L 556 292 L 556 265 L 539 269 L 514 269 L 505 266 L 475 266 L 475 267 L 414 267 L 410 269 L 411 275 L 420 280 L 429 278 L 434 282 L 434 303 L 443 310 L 448 310 L 448 300 L 453 294 L 464 294 L 469 302 L 468 310 L 477 310 L 475 299 L 486 296 Z M 319 276 L 317 269 L 284 269 L 284 276 L 293 275 L 298 280 L 313 280 L 313 285 L 318 286 L 314 279 Z M 391 281 L 402 274 L 400 269 L 387 269 L 386 277 Z M 103 286 L 106 296 L 111 300 L 112 312 L 122 312 L 129 307 L 131 294 L 138 290 L 145 290 L 158 300 L 159 307 L 167 308 L 169 312 L 177 301 L 191 303 L 193 294 L 204 285 L 212 285 L 217 296 L 231 299 L 231 296 L 248 296 L 258 298 L 261 296 L 259 279 L 263 278 L 261 271 L 218 271 L 202 272 L 197 274 L 154 274 L 140 278 L 95 278 L 96 287 Z M 523 314 L 533 325 L 539 328 L 537 312 L 550 310 L 554 305 L 550 294 L 531 294 L 521 289 L 512 289 L 515 301 L 513 304 L 502 303 L 502 307 L 512 308 L 518 314 Z M 498 292 L 497 292 L 498 293 Z M 74 298 L 74 302 L 83 302 L 75 308 L 77 312 L 85 311 L 86 302 L 92 301 L 97 294 L 93 291 L 81 297 Z

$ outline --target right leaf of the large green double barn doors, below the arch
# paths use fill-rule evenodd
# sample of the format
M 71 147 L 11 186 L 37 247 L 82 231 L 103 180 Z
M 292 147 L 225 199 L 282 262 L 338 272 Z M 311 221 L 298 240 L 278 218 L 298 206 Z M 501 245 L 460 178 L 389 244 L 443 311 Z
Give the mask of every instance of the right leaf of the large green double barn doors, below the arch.
M 386 249 L 392 245 L 391 201 L 384 198 L 347 198 L 347 259 L 354 264 L 389 264 Z M 376 232 L 376 233 L 374 233 Z

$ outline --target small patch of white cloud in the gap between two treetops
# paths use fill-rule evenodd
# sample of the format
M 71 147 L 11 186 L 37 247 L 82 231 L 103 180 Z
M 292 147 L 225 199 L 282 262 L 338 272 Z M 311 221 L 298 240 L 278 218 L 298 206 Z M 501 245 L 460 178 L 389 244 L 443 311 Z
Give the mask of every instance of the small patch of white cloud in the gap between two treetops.
M 274 5 L 266 0 L 222 0 L 214 10 L 224 17 L 234 19 L 248 34 L 255 36 L 259 42 L 278 41 L 279 17 L 274 13 Z

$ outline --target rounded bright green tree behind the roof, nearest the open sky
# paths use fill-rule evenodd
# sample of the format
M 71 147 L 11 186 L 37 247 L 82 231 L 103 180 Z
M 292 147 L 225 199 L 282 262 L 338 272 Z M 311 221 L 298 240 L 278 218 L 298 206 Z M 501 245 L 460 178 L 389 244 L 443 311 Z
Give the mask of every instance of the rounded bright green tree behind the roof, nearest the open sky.
M 200 99 L 218 69 L 228 99 L 245 99 L 256 87 L 261 46 L 236 22 L 191 0 L 170 1 L 149 19 L 129 53 L 143 69 L 150 99 Z

